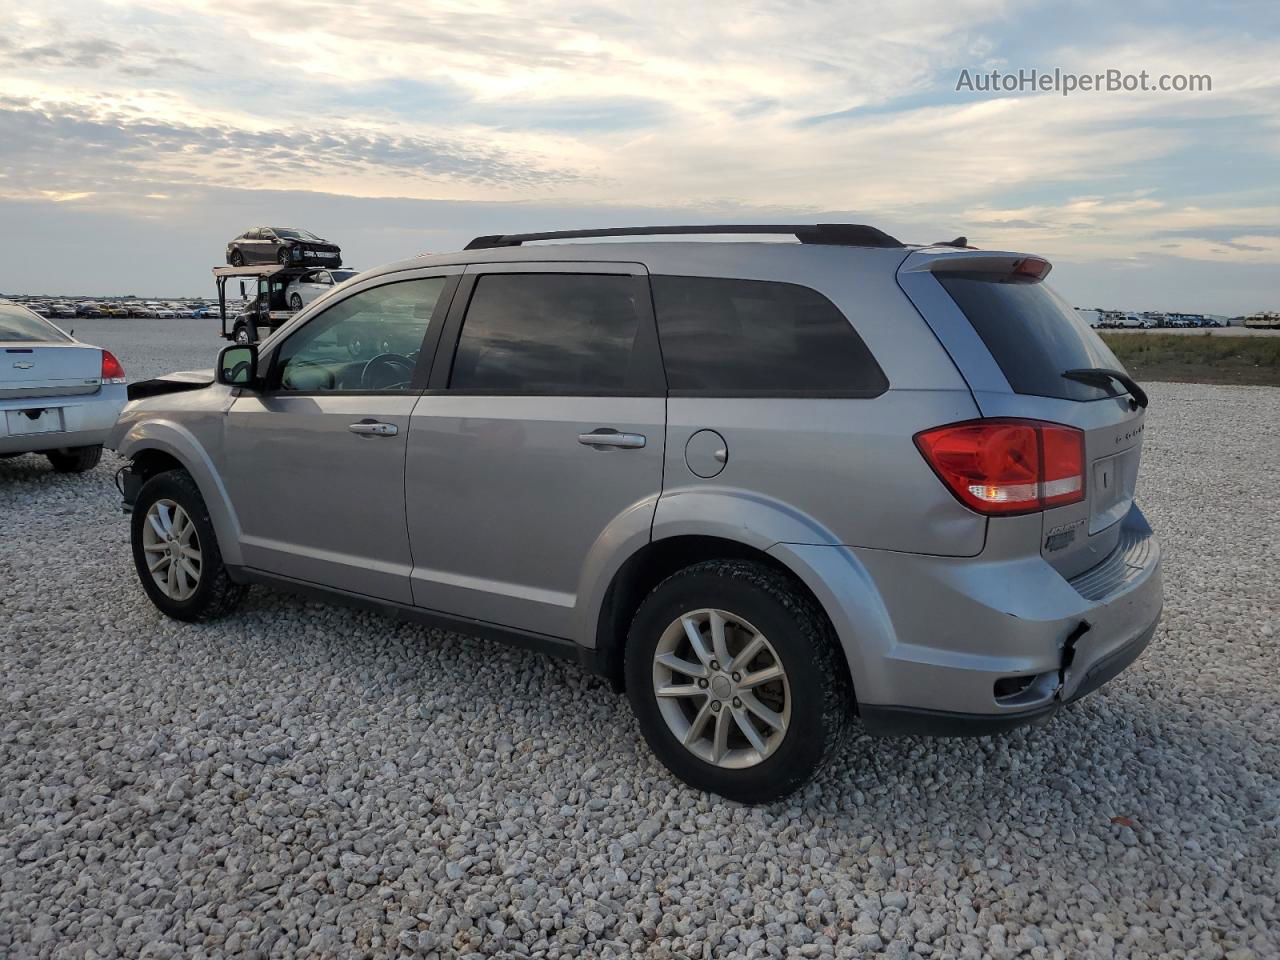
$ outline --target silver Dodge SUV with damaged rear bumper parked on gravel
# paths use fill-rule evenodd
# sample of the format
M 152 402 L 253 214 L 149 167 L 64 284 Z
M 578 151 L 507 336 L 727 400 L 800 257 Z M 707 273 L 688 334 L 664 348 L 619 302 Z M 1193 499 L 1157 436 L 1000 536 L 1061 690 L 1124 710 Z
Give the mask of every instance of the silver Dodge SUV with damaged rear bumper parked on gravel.
M 545 243 L 718 233 L 799 242 Z M 1162 602 L 1147 398 L 1048 269 L 819 224 L 371 270 L 212 383 L 134 389 L 111 445 L 142 586 L 180 620 L 268 584 L 579 660 L 676 776 L 748 803 L 855 717 L 1044 719 Z

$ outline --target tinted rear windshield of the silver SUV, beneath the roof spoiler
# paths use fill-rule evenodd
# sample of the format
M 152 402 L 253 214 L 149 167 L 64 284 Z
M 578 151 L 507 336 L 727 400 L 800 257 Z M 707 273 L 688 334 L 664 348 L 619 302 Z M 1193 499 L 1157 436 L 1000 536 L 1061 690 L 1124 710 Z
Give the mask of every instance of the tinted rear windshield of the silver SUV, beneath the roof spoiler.
M 1117 396 L 1114 387 L 1062 376 L 1064 370 L 1080 367 L 1124 367 L 1071 305 L 1043 283 L 1001 283 L 973 274 L 937 278 L 969 317 L 1014 393 L 1074 401 Z

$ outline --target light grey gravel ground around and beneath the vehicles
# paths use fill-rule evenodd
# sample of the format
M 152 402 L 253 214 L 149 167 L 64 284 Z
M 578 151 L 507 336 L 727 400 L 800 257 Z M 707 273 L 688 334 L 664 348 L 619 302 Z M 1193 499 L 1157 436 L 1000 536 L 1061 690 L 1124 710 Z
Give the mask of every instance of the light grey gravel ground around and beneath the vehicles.
M 209 365 L 163 325 L 97 340 Z M 0 955 L 1277 956 L 1280 390 L 1151 393 L 1148 654 L 1044 728 L 859 737 L 754 809 L 576 667 L 261 589 L 168 621 L 118 461 L 0 461 Z

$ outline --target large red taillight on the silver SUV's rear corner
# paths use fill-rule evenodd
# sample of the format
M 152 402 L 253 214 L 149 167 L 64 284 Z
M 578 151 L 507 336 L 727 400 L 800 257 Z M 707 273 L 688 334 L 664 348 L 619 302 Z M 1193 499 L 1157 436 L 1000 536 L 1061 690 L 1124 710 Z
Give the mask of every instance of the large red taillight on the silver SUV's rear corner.
M 1038 420 L 972 420 L 915 435 L 924 460 L 966 507 L 1029 513 L 1084 499 L 1084 434 Z

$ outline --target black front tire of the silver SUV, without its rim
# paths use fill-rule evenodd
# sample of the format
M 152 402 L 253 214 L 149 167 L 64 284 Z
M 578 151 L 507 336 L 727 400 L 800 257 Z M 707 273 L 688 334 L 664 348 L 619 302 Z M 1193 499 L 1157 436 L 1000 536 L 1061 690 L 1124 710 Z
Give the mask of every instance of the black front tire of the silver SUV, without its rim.
M 169 499 L 186 511 L 196 526 L 200 538 L 201 570 L 195 593 L 186 600 L 166 596 L 156 585 L 147 570 L 146 554 L 142 549 L 142 527 L 147 522 L 147 511 L 156 500 Z M 248 588 L 234 582 L 227 575 L 221 550 L 218 549 L 218 536 L 214 522 L 209 517 L 205 498 L 200 495 L 196 481 L 186 470 L 168 470 L 156 474 L 138 490 L 129 517 L 129 535 L 133 544 L 133 566 L 138 581 L 147 596 L 161 613 L 174 620 L 202 622 L 218 620 L 230 613 L 244 598 Z

